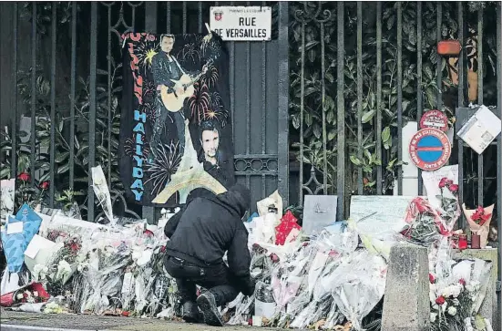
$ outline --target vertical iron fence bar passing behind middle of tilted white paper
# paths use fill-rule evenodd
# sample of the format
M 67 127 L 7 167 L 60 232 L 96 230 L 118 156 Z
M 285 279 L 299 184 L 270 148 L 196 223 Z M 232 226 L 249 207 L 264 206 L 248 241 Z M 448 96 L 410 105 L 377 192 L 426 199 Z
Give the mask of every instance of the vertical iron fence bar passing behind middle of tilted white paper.
M 477 104 L 483 104 L 483 6 L 477 10 Z M 498 87 L 500 88 L 500 87 Z M 477 204 L 483 205 L 483 153 L 477 155 Z

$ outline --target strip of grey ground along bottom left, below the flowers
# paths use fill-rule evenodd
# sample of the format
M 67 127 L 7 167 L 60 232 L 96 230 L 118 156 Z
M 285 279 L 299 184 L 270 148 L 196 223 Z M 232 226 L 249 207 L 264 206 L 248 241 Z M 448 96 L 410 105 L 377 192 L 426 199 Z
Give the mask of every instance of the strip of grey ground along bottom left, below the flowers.
M 73 314 L 33 314 L 0 310 L 1 331 L 51 330 L 127 330 L 127 331 L 243 331 L 250 326 L 213 327 L 203 324 L 187 324 L 159 319 L 136 317 L 110 317 Z M 271 330 L 261 327 L 260 331 Z

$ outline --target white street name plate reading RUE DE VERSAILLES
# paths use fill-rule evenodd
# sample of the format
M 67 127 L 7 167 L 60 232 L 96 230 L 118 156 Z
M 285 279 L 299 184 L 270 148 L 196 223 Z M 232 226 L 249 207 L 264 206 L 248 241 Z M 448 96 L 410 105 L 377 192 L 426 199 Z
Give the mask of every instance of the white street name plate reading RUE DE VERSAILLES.
M 223 40 L 271 40 L 271 7 L 210 7 L 210 29 Z

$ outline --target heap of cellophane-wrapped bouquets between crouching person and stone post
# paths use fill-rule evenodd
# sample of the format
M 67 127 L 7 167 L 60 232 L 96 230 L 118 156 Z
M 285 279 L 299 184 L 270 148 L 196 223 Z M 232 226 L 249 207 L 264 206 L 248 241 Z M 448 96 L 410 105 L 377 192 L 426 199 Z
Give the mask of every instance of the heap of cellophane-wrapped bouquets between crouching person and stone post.
M 362 329 L 364 316 L 384 295 L 384 258 L 359 249 L 358 234 L 347 226 L 302 238 L 293 218 L 286 212 L 277 223 L 265 214 L 248 225 L 251 274 L 258 284 L 255 297 L 240 295 L 229 305 L 229 324 L 247 324 L 251 315 L 262 314 L 263 326 Z M 270 301 L 265 291 L 274 301 L 267 316 L 261 309 L 262 300 Z

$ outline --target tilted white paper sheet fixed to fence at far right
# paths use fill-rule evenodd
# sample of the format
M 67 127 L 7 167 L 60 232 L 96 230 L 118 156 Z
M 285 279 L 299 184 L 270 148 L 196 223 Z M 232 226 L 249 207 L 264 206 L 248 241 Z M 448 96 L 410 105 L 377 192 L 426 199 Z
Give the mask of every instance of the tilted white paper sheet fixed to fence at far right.
M 477 154 L 482 154 L 500 134 L 500 129 L 500 119 L 497 115 L 486 106 L 481 106 L 457 134 Z

